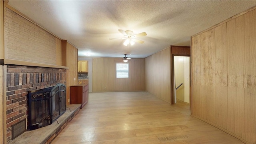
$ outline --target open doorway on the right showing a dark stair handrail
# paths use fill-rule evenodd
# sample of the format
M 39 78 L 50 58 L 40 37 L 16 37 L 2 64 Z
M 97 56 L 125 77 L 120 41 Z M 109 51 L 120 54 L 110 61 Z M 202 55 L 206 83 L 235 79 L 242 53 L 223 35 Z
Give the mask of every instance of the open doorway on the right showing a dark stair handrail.
M 174 103 L 190 103 L 190 56 L 174 56 Z

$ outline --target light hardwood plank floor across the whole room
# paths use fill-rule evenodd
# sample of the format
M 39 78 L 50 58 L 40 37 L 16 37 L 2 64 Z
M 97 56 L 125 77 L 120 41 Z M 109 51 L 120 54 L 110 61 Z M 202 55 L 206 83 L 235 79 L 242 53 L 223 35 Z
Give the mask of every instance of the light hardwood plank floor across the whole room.
M 94 92 L 52 144 L 243 144 L 148 92 Z

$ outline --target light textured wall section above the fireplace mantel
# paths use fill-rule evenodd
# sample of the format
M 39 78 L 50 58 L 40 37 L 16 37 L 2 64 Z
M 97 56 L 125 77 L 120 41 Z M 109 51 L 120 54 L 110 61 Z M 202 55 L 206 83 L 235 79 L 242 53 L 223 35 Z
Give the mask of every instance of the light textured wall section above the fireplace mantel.
M 4 58 L 62 64 L 61 40 L 4 7 Z

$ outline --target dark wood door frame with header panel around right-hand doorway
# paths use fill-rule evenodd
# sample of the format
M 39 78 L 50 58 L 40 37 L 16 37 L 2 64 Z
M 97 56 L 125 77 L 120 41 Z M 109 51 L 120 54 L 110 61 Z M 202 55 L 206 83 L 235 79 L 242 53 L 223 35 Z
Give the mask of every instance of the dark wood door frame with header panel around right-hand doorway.
M 174 56 L 190 56 L 190 46 L 171 46 L 171 104 L 174 104 Z M 190 56 L 191 61 L 191 56 Z M 191 71 L 191 69 L 190 69 Z M 190 72 L 191 75 L 191 72 Z M 190 76 L 191 80 L 191 76 Z M 191 86 L 190 86 L 190 108 L 191 108 Z

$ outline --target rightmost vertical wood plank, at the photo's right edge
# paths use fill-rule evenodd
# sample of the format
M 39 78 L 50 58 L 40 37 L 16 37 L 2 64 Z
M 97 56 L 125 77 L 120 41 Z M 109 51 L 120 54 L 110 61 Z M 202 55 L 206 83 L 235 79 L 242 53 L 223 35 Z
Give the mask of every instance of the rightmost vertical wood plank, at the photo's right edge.
M 245 135 L 256 144 L 256 10 L 244 14 Z

